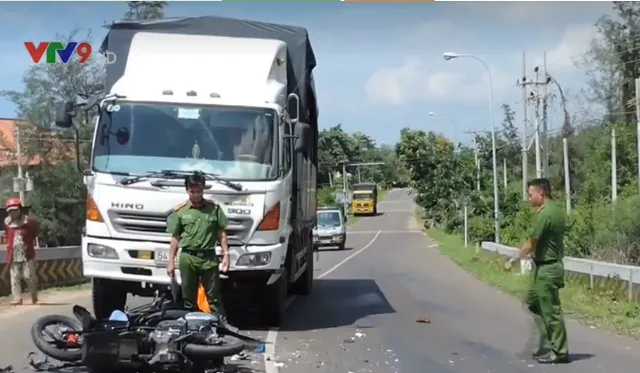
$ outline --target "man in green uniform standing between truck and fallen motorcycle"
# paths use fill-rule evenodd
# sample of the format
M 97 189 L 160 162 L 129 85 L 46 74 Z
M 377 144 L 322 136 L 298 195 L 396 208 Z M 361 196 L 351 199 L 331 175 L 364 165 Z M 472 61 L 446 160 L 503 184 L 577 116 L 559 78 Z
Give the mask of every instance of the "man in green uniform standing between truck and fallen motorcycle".
M 228 220 L 219 205 L 206 200 L 205 178 L 195 173 L 185 178 L 189 199 L 176 206 L 169 222 L 171 234 L 167 273 L 175 275 L 175 258 L 178 247 L 182 279 L 182 297 L 186 308 L 197 308 L 198 284 L 201 282 L 207 293 L 211 310 L 226 317 L 220 292 L 220 271 L 229 270 L 229 244 L 225 228 Z M 222 265 L 216 254 L 216 244 L 222 247 Z

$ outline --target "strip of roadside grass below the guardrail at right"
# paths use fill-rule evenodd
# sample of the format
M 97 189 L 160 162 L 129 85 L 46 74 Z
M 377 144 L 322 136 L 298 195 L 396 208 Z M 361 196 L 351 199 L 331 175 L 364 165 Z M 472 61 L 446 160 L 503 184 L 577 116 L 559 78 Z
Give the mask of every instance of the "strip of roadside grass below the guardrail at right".
M 464 247 L 460 236 L 438 229 L 429 229 L 427 234 L 439 242 L 440 251 L 458 266 L 489 285 L 524 299 L 530 277 L 504 271 L 503 257 L 482 251 L 476 253 L 475 248 Z M 627 301 L 619 292 L 607 288 L 591 289 L 584 281 L 567 276 L 561 298 L 568 317 L 640 339 L 640 304 Z

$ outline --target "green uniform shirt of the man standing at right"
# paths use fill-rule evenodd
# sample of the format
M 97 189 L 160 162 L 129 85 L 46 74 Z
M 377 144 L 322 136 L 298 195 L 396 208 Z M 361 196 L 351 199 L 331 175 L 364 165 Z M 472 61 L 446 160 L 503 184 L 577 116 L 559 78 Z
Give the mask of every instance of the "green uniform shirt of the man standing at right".
M 552 201 L 545 201 L 533 219 L 531 239 L 537 240 L 533 261 L 561 261 L 564 258 L 564 210 Z

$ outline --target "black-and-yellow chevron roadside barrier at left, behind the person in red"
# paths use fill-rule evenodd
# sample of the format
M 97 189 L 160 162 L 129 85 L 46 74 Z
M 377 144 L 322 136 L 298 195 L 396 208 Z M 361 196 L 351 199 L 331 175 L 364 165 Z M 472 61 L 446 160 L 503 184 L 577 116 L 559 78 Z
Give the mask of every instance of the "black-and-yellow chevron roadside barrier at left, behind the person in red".
M 11 293 L 10 268 L 6 249 L 0 249 L 0 296 Z M 36 249 L 38 287 L 73 285 L 84 282 L 82 274 L 82 247 L 42 247 Z

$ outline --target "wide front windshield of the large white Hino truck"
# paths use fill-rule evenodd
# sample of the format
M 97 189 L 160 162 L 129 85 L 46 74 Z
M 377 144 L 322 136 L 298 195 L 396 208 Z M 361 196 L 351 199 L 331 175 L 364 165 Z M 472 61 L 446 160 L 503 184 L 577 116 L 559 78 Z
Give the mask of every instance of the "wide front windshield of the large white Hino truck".
M 277 175 L 273 110 L 121 101 L 117 107 L 100 118 L 95 171 L 199 170 L 235 180 Z

